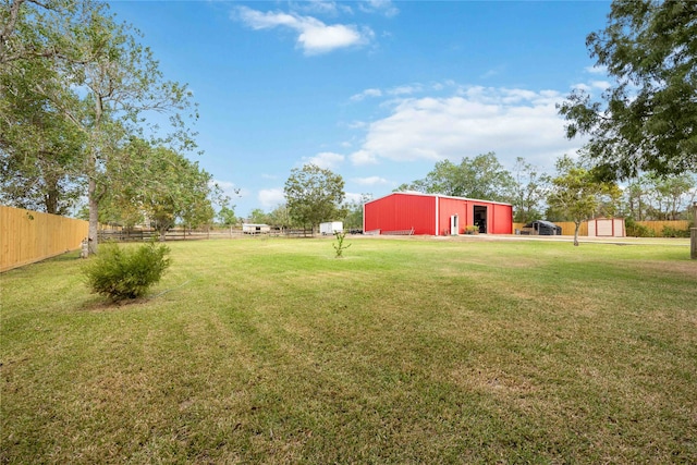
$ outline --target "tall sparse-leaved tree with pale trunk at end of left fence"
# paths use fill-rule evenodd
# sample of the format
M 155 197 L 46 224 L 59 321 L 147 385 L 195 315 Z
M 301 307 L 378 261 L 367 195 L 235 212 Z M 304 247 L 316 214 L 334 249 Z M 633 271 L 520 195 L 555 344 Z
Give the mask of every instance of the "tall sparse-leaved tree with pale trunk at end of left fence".
M 24 63 L 49 60 L 50 79 L 32 73 L 22 83 L 32 84 L 32 91 L 46 99 L 84 140 L 75 166 L 87 183 L 94 253 L 99 205 L 114 178 L 150 176 L 147 170 L 132 170 L 123 156 L 132 136 L 145 135 L 148 114 L 169 112 L 172 127 L 168 134 L 154 129 L 148 137 L 179 150 L 193 147 L 181 117 L 191 108 L 189 94 L 184 86 L 163 79 L 152 53 L 139 44 L 139 33 L 117 23 L 106 3 L 10 0 L 2 5 L 1 17 L 5 21 L 0 30 L 1 72 L 16 73 Z M 15 87 L 10 84 L 2 90 L 15 91 Z

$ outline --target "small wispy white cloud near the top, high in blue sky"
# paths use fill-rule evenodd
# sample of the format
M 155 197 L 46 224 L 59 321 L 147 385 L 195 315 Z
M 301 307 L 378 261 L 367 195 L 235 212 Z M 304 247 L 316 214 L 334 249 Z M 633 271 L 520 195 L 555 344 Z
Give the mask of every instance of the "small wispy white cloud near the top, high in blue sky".
M 240 7 L 235 15 L 253 29 L 286 27 L 297 33 L 297 46 L 305 54 L 326 53 L 340 48 L 368 44 L 375 36 L 368 27 L 358 28 L 353 24 L 327 25 L 311 16 L 295 13 L 261 12 Z

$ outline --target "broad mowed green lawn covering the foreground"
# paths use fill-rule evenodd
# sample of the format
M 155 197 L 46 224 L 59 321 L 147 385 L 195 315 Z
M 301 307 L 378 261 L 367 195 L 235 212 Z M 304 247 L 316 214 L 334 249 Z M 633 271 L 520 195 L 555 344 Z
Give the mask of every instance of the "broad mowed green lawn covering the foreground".
M 0 463 L 697 463 L 687 246 L 348 242 L 3 273 Z

